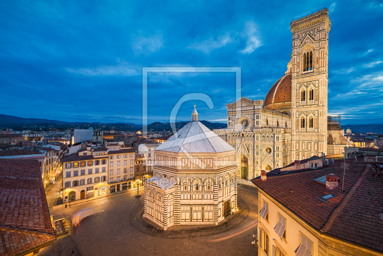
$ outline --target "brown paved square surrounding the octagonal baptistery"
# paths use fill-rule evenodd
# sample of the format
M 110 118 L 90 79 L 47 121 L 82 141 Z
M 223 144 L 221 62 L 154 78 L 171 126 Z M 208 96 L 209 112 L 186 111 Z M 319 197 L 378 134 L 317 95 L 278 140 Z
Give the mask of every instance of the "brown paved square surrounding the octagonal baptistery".
M 140 193 L 142 194 L 142 192 Z M 40 256 L 69 256 L 72 249 L 77 256 L 101 255 L 193 255 L 226 256 L 257 255 L 257 248 L 251 244 L 257 233 L 257 190 L 242 185 L 238 188 L 239 201 L 249 213 L 232 230 L 205 235 L 193 232 L 182 238 L 167 238 L 167 231 L 151 233 L 137 228 L 137 209 L 143 206 L 143 197 L 136 198 L 136 191 L 111 195 L 97 200 L 72 205 L 71 208 L 56 206 L 51 214 L 65 213 L 68 223 L 71 216 L 83 208 L 95 206 L 101 213 L 83 219 L 80 226 L 72 228 L 69 235 L 62 236 L 40 250 Z M 240 209 L 241 210 L 241 209 Z M 138 224 L 137 224 L 138 223 Z M 224 227 L 224 225 L 223 225 Z M 245 231 L 243 231 L 245 230 Z

